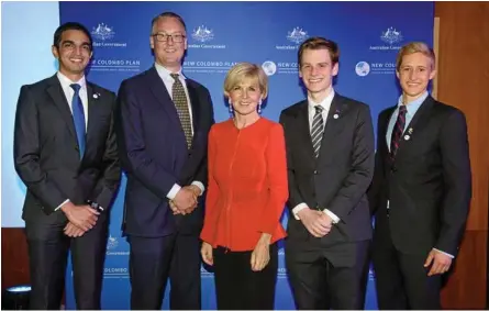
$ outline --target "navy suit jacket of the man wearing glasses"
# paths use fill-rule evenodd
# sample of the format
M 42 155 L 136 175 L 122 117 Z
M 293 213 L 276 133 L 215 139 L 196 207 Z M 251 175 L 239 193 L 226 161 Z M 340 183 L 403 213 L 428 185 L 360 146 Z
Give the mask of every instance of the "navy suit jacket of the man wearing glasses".
M 177 230 L 199 234 L 202 227 L 202 198 L 185 216 L 173 214 L 167 198 L 175 184 L 184 187 L 198 180 L 205 186 L 208 180 L 212 100 L 202 85 L 191 79 L 186 85 L 193 122 L 190 149 L 175 103 L 155 67 L 124 80 L 119 90 L 115 129 L 127 176 L 123 230 L 129 235 L 157 237 Z

